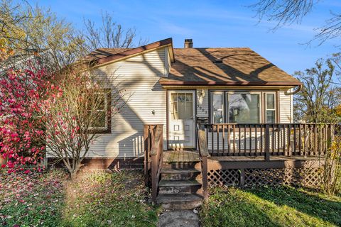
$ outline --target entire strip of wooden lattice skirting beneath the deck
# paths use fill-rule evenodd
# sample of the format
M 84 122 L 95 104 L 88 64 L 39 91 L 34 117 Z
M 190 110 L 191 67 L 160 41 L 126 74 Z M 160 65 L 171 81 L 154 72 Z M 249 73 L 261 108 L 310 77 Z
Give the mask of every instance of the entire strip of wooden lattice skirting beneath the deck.
M 210 186 L 224 184 L 234 187 L 286 184 L 300 187 L 319 187 L 322 181 L 320 168 L 283 169 L 227 169 L 210 170 Z

